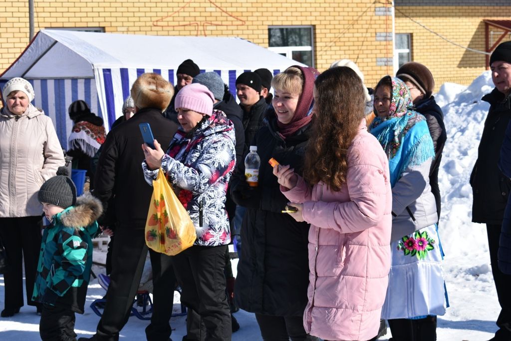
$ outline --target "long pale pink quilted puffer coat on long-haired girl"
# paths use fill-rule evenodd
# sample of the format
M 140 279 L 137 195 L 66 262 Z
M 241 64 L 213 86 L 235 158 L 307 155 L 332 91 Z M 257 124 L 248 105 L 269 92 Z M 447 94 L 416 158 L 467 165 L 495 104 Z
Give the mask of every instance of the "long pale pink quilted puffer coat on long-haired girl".
M 390 269 L 392 192 L 387 156 L 365 119 L 349 148 L 346 184 L 332 192 L 303 178 L 284 195 L 303 202 L 309 231 L 305 330 L 327 340 L 378 333 Z

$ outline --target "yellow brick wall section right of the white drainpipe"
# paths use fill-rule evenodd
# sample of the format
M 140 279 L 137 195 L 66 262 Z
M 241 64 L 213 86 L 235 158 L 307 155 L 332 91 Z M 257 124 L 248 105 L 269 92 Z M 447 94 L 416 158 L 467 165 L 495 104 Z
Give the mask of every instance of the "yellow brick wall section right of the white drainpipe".
M 509 20 L 509 7 L 398 7 L 396 33 L 412 34 L 412 60 L 428 66 L 436 90 L 445 82 L 469 85 L 486 70 L 485 56 L 471 52 L 428 32 L 408 17 L 443 37 L 485 51 L 483 19 Z M 491 30 L 497 30 L 490 27 Z M 509 37 L 509 36 L 507 36 Z M 503 41 L 508 40 L 504 39 Z M 490 44 L 492 45 L 492 44 Z

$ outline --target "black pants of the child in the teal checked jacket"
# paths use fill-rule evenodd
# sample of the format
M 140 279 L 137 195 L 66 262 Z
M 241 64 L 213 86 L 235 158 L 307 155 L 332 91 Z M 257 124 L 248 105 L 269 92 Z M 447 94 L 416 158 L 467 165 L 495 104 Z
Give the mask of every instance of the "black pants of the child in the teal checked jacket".
M 39 335 L 42 341 L 76 341 L 75 312 L 71 309 L 43 305 Z

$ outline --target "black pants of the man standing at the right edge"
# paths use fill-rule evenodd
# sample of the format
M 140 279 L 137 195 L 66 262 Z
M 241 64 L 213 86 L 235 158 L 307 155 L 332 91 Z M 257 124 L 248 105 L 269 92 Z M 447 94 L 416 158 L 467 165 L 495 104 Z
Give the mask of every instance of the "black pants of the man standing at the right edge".
M 497 319 L 499 330 L 495 333 L 496 340 L 511 340 L 511 275 L 505 275 L 499 270 L 497 252 L 499 250 L 500 225 L 486 224 L 490 262 L 492 263 L 493 280 L 497 289 L 500 304 L 500 314 Z

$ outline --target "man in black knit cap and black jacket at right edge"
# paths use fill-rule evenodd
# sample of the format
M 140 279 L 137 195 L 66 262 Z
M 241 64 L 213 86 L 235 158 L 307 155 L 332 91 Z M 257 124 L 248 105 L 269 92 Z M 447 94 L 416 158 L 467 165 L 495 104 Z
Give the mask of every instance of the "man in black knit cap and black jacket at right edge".
M 470 176 L 474 201 L 472 221 L 486 224 L 493 279 L 500 307 L 497 319 L 499 330 L 492 340 L 511 339 L 511 275 L 503 274 L 498 267 L 497 253 L 502 218 L 506 207 L 511 181 L 498 167 L 500 148 L 505 129 L 511 117 L 511 41 L 501 43 L 490 57 L 495 88 L 482 100 L 490 103 L 484 121 L 477 161 Z

